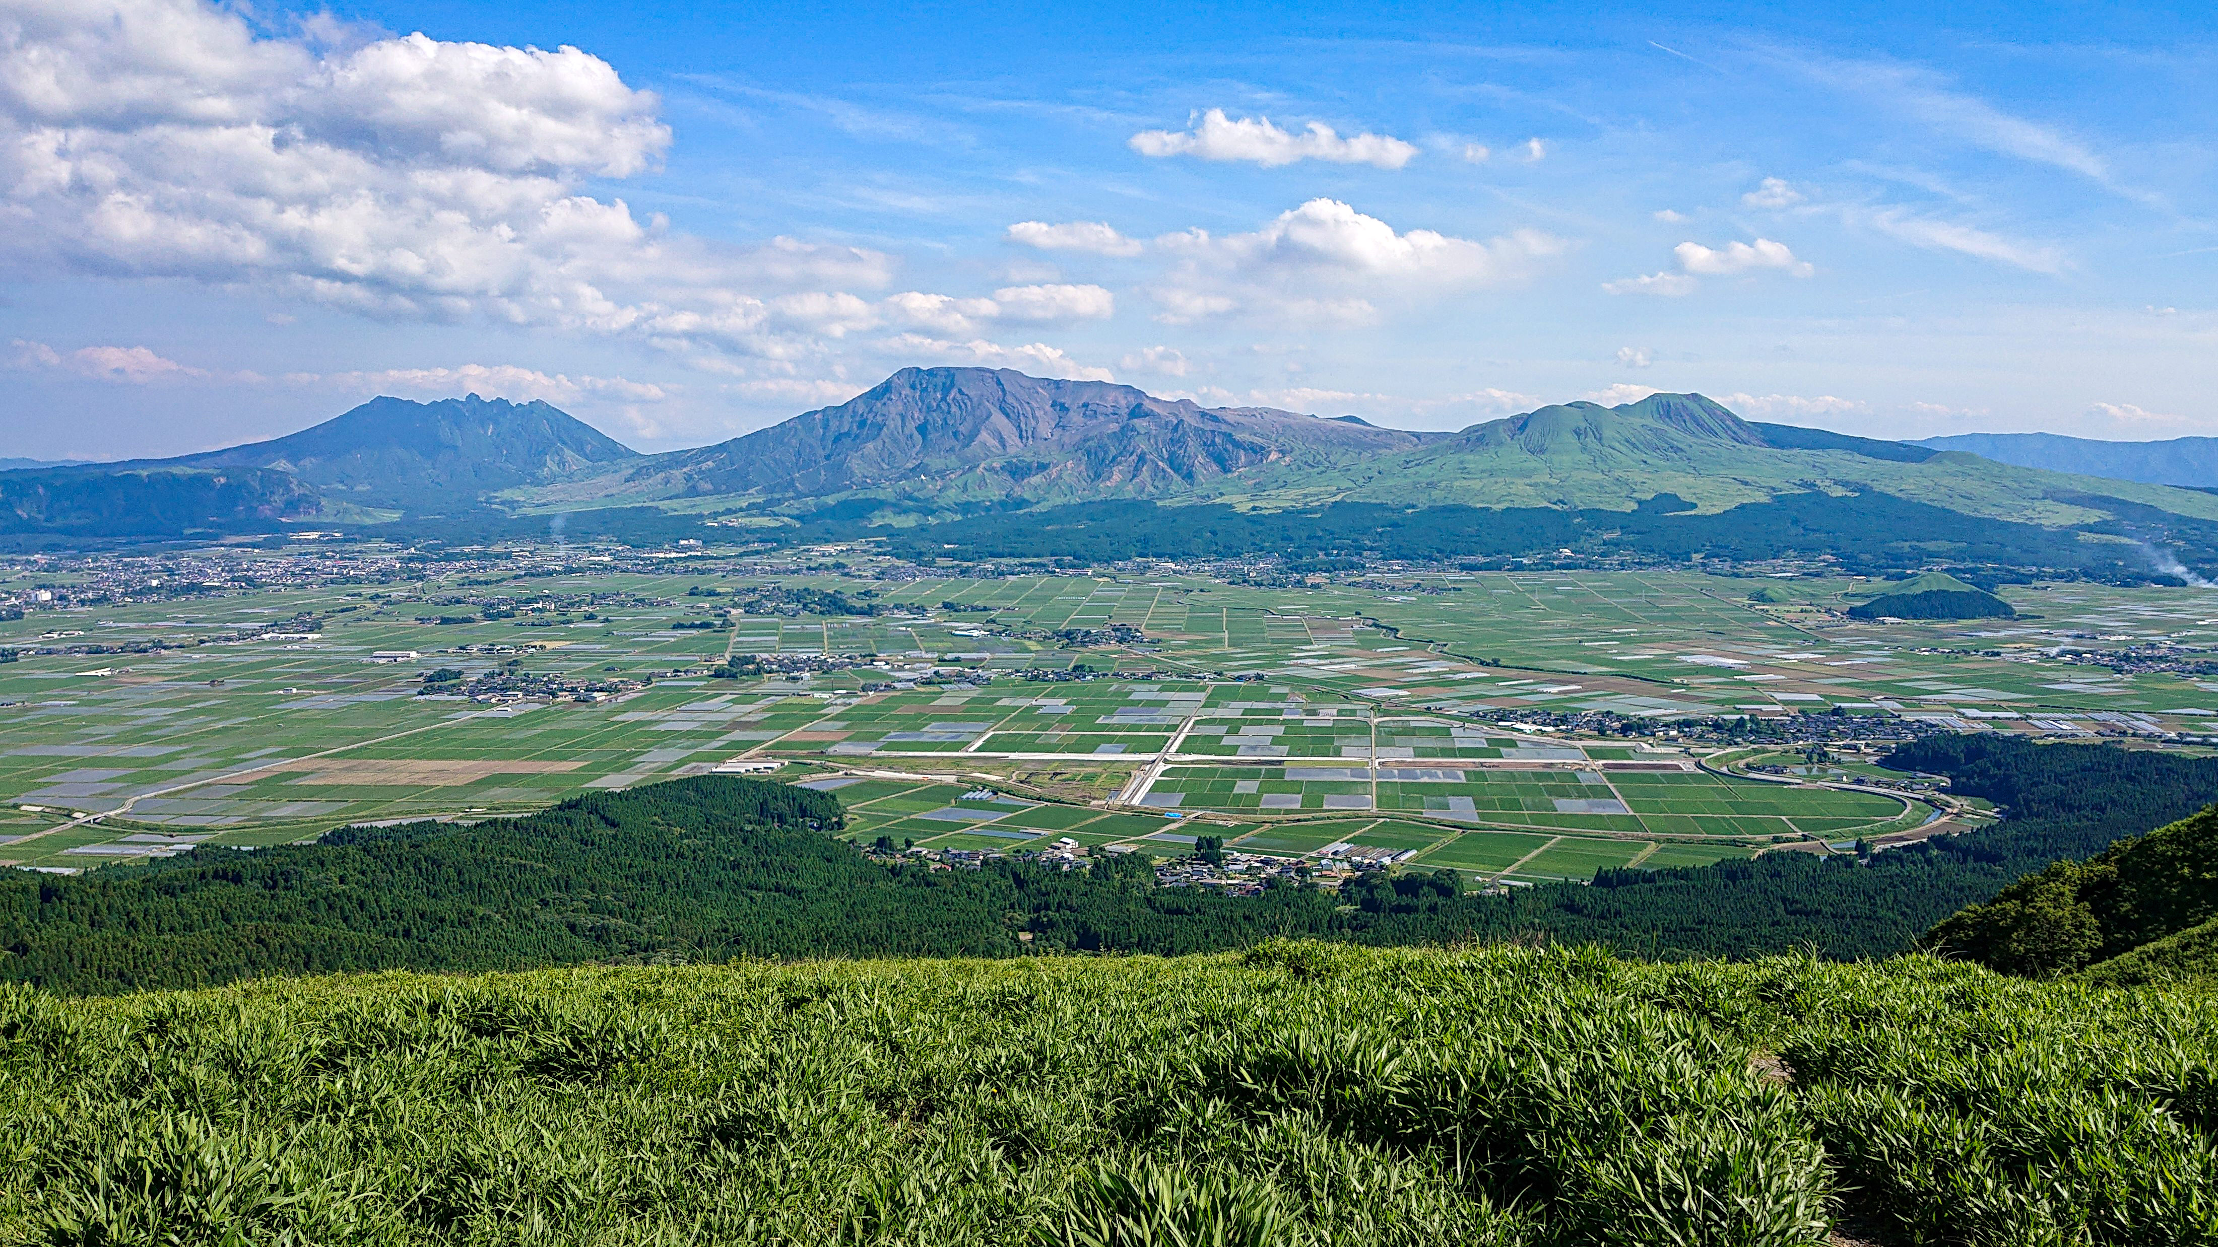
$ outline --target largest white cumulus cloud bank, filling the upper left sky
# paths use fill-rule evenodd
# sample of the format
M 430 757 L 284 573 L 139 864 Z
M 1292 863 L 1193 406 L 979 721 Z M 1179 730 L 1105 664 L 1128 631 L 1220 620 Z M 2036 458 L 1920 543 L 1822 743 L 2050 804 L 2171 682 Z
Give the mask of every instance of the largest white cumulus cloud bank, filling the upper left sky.
M 652 91 L 588 51 L 271 38 L 244 13 L 0 0 L 0 264 L 630 337 L 767 373 L 830 371 L 843 337 L 923 315 L 874 297 L 883 253 L 712 242 L 597 191 L 659 169 L 672 133 Z M 1051 302 L 1016 295 L 1007 315 Z

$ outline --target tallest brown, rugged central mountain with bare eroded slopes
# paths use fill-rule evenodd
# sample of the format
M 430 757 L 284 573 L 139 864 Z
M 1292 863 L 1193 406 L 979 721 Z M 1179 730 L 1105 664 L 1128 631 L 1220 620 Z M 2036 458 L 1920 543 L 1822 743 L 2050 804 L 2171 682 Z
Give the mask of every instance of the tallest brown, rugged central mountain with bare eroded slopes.
M 1273 408 L 1204 408 L 1007 368 L 903 368 L 838 406 L 546 493 L 1160 497 L 1271 464 L 1335 464 L 1437 437 Z

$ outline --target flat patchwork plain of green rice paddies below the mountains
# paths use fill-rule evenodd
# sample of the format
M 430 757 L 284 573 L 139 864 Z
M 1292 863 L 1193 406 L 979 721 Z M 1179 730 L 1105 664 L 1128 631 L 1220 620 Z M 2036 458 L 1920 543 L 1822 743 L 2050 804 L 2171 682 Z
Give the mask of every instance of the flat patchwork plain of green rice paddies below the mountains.
M 1406 845 L 1420 865 L 1517 883 L 1845 843 L 1914 828 L 1932 810 L 1856 790 L 1852 772 L 1772 783 L 1672 748 L 1539 737 L 1502 723 L 1510 710 L 1668 719 L 1839 708 L 2038 734 L 2218 730 L 2214 681 L 2116 675 L 2056 652 L 2218 639 L 2205 590 L 2007 586 L 2021 608 L 2012 621 L 1859 624 L 1812 608 L 1845 581 L 1400 579 L 1408 584 L 1264 590 L 1196 577 L 881 581 L 865 568 L 572 566 L 468 586 L 448 577 L 33 610 L 0 621 L 0 648 L 27 650 L 0 663 L 0 863 L 82 870 L 350 821 L 497 817 L 779 761 L 790 779 L 854 781 L 841 794 L 872 837 L 1014 848 L 1040 841 L 1031 830 L 1158 845 L 1222 834 L 1231 848 L 1278 852 L 1264 845 L 1302 841 L 1302 823 L 1346 823 L 1351 834 L 1428 837 Z M 878 615 L 725 617 L 725 599 L 690 595 L 761 584 L 856 601 L 867 592 Z M 1759 586 L 1785 586 L 1790 601 L 1748 601 Z M 464 588 L 510 595 L 519 610 L 486 619 L 441 606 Z M 288 630 L 295 619 L 313 626 Z M 672 628 L 703 621 L 716 626 Z M 1098 643 L 1113 626 L 1144 639 Z M 35 652 L 89 641 L 166 648 Z M 794 675 L 705 675 L 745 655 L 823 661 Z M 652 683 L 601 703 L 419 697 L 426 670 L 475 677 L 510 663 Z M 1074 668 L 1151 677 L 1047 679 Z M 1069 803 L 971 810 L 947 797 L 994 781 Z

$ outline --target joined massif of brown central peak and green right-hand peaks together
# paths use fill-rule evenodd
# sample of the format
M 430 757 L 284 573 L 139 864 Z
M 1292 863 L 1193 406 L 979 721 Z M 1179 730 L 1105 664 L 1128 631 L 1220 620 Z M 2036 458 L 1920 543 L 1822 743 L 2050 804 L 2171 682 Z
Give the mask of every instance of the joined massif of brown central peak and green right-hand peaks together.
M 1719 513 L 1870 493 L 2047 528 L 2131 524 L 2156 539 L 2165 517 L 2218 521 L 2218 497 L 2196 490 L 1754 424 L 1703 395 L 1557 404 L 1435 435 L 987 368 L 905 368 L 852 402 L 716 446 L 517 488 L 506 501 L 543 510 L 852 499 L 849 508 L 943 515 L 1144 497 L 1262 510 L 1375 501 L 1624 513 L 1677 495 Z

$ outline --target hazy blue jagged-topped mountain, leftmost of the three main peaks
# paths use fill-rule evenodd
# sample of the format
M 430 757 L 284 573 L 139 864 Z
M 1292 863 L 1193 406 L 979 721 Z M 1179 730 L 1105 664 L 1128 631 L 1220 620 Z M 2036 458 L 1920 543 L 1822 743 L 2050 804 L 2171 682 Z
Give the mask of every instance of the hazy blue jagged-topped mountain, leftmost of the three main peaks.
M 439 402 L 377 397 L 271 442 L 133 466 L 273 468 L 335 501 L 464 508 L 486 493 L 637 457 L 543 402 L 470 395 Z

